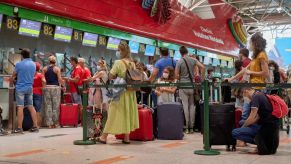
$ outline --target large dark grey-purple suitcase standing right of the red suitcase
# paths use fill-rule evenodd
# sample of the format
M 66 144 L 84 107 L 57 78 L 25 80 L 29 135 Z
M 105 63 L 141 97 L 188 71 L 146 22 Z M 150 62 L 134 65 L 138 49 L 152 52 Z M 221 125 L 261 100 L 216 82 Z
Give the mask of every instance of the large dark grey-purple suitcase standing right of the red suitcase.
M 184 115 L 181 103 L 161 103 L 157 107 L 157 138 L 182 140 Z

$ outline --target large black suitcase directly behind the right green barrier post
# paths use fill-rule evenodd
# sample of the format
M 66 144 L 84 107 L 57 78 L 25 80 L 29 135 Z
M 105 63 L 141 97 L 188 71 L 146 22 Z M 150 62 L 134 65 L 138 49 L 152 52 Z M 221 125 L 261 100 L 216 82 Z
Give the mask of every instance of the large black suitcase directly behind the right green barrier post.
M 204 105 L 201 106 L 203 132 Z M 209 104 L 209 141 L 212 145 L 226 145 L 227 151 L 235 151 L 236 140 L 232 137 L 235 129 L 235 106 L 233 103 Z M 231 148 L 232 146 L 232 148 Z

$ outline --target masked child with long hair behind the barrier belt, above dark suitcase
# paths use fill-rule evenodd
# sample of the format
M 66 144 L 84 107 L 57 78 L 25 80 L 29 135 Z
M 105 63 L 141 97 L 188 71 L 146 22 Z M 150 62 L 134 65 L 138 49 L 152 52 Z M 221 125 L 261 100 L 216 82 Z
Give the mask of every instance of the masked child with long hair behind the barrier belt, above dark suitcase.
M 158 83 L 174 83 L 174 69 L 172 67 L 166 67 L 163 70 L 163 75 L 158 79 Z M 175 102 L 176 87 L 158 87 L 156 94 L 158 95 L 158 104 L 165 102 Z

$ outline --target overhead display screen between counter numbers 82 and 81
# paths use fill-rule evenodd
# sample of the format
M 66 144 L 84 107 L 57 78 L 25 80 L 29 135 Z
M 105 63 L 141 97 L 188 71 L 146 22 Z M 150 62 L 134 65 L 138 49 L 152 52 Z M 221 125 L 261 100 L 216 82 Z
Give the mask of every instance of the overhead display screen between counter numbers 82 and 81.
M 56 26 L 55 29 L 55 40 L 63 41 L 63 42 L 71 42 L 73 29 Z

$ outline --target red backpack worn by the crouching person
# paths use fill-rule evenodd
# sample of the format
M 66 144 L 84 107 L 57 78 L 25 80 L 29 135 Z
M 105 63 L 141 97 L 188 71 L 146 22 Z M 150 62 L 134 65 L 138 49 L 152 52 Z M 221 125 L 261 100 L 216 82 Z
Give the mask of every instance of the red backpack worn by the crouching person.
M 272 115 L 283 118 L 288 114 L 288 106 L 278 95 L 266 95 L 273 107 Z

